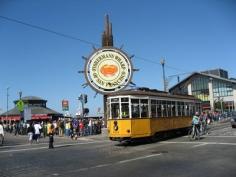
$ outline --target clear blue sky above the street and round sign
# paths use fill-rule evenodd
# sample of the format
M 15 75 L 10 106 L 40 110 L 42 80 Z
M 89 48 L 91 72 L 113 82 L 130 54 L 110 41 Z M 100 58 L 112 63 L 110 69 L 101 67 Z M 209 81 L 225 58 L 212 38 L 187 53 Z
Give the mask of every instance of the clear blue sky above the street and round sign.
M 113 25 L 115 47 L 134 54 L 133 82 L 163 89 L 160 60 L 166 75 L 214 68 L 236 77 L 236 2 L 233 0 L 0 0 L 0 16 L 16 19 L 100 47 L 104 16 Z M 103 106 L 102 95 L 81 85 L 85 78 L 81 56 L 92 45 L 0 18 L 0 111 L 23 96 L 39 96 L 48 107 L 62 112 L 68 99 L 70 112 L 88 94 L 91 115 Z M 181 79 L 186 75 L 181 75 Z M 176 78 L 169 79 L 170 86 Z

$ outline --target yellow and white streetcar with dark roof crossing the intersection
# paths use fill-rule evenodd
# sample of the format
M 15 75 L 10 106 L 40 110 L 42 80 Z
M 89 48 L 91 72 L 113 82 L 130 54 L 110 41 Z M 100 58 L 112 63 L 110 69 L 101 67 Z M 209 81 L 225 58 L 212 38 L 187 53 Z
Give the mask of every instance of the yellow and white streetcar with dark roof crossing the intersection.
M 201 101 L 190 95 L 140 88 L 109 94 L 106 106 L 108 136 L 123 141 L 190 127 Z

